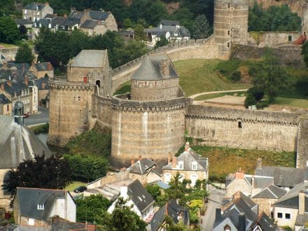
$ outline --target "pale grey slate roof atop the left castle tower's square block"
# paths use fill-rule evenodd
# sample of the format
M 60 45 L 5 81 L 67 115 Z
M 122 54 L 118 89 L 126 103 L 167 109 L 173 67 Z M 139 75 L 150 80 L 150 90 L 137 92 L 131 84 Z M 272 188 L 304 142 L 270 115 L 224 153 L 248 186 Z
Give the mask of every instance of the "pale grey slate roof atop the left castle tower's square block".
M 107 50 L 81 50 L 71 60 L 71 66 L 103 68 L 105 59 L 108 59 Z

